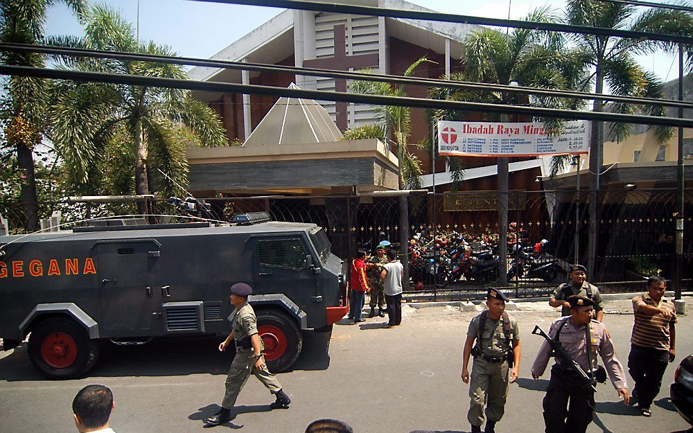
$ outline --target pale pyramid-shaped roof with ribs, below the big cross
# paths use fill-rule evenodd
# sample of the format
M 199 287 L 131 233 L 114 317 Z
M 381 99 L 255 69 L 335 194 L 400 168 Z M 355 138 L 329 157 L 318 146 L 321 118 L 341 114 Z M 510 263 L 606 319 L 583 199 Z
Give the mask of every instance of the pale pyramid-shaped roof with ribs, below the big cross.
M 299 89 L 293 83 L 290 89 Z M 339 141 L 342 132 L 312 99 L 279 98 L 243 147 Z

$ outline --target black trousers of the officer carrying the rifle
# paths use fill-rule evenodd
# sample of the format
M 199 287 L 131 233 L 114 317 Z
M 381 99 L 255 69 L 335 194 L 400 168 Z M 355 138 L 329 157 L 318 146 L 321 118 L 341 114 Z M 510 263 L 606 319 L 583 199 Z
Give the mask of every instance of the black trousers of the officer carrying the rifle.
M 554 364 L 543 409 L 546 433 L 585 433 L 595 412 L 595 392 L 575 373 Z

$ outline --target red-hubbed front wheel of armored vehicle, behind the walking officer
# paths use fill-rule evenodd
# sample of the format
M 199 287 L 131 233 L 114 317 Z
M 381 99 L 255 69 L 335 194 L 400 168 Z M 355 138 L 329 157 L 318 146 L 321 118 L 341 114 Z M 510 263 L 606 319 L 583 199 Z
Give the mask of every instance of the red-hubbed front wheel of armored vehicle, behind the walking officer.
M 301 330 L 288 315 L 277 310 L 258 312 L 258 333 L 265 345 L 265 362 L 272 373 L 285 371 L 301 353 Z

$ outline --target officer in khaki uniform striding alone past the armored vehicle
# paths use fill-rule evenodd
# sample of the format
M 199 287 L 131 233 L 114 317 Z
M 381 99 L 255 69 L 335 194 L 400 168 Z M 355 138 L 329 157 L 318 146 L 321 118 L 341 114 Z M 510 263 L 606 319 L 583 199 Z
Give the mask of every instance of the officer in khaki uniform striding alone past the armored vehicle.
M 231 369 L 226 378 L 226 394 L 221 409 L 205 420 L 206 427 L 231 421 L 231 407 L 236 405 L 236 398 L 251 373 L 276 396 L 277 400 L 270 405 L 272 409 L 286 408 L 291 403 L 289 396 L 281 389 L 279 380 L 267 370 L 263 357 L 263 343 L 257 330 L 257 319 L 248 303 L 248 296 L 252 291 L 245 283 L 231 286 L 231 304 L 236 307 L 236 311 L 231 318 L 231 333 L 219 344 L 219 350 L 225 351 L 233 341 L 236 344 L 236 356 L 231 362 Z

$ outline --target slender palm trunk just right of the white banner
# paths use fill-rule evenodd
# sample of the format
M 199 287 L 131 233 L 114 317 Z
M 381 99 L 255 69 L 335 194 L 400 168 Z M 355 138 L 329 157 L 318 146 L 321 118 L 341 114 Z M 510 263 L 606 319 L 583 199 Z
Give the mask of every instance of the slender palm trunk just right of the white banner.
M 604 90 L 604 67 L 601 60 L 597 61 L 595 94 L 602 94 Z M 604 111 L 604 101 L 595 99 L 594 112 Z M 604 123 L 592 121 L 592 136 L 590 136 L 590 192 L 589 197 L 589 232 L 587 241 L 586 263 L 588 279 L 595 278 L 597 273 L 597 248 L 599 244 L 599 188 L 602 173 L 602 161 L 604 147 Z

